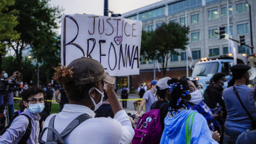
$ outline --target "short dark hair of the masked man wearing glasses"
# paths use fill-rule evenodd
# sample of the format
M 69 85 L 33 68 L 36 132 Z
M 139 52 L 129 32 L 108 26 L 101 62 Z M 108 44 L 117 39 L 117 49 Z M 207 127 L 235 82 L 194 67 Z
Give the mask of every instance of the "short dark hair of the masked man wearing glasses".
M 28 98 L 40 93 L 42 93 L 45 96 L 44 89 L 38 86 L 30 86 L 28 87 L 28 89 L 24 89 L 24 91 L 22 92 L 21 94 L 22 100 L 25 100 L 26 102 L 28 102 Z

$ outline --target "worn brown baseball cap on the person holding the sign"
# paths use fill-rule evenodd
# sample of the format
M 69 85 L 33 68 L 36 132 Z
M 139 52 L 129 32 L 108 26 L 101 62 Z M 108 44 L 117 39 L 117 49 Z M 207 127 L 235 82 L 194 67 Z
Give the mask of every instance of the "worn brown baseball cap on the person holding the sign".
M 94 59 L 87 57 L 75 59 L 69 63 L 67 69 L 71 69 L 72 67 L 75 85 L 86 85 L 88 83 L 95 83 L 96 81 L 100 80 L 112 85 L 115 83 L 115 77 L 105 73 L 100 62 Z

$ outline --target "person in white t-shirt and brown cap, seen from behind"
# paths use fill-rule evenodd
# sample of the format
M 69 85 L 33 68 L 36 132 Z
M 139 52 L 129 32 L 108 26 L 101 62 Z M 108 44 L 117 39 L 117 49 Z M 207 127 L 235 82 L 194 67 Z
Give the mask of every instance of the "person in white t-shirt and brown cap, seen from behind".
M 104 73 L 98 61 L 86 57 L 76 59 L 67 67 L 58 67 L 53 79 L 64 85 L 69 104 L 65 104 L 59 114 L 46 118 L 43 129 L 49 126 L 49 121 L 55 115 L 54 129 L 61 133 L 75 118 L 88 114 L 91 118 L 64 137 L 65 143 L 131 143 L 134 131 L 129 116 L 115 94 L 115 77 Z M 104 85 L 114 118 L 94 118 L 94 111 L 102 104 Z M 42 141 L 48 139 L 47 134 L 48 130 L 42 134 Z

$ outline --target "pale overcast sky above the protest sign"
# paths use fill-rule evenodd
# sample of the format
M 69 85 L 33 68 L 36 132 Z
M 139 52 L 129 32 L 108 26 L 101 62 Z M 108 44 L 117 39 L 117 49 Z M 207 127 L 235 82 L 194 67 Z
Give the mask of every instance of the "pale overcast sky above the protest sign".
M 114 13 L 125 13 L 161 0 L 108 0 L 108 9 Z M 65 14 L 87 13 L 103 15 L 104 0 L 51 0 L 51 5 L 59 5 Z M 59 24 L 61 26 L 61 24 Z M 57 30 L 61 34 L 61 28 Z

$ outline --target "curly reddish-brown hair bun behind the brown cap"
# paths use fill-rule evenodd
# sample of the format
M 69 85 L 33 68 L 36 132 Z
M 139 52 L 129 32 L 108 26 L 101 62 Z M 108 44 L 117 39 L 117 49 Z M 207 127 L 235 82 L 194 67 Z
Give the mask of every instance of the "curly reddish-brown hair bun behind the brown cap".
M 68 83 L 69 81 L 73 80 L 73 67 L 67 69 L 65 65 L 59 64 L 60 67 L 54 68 L 56 73 L 54 73 L 53 79 L 58 83 Z

